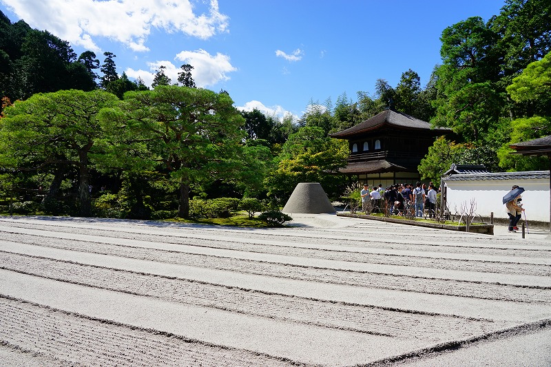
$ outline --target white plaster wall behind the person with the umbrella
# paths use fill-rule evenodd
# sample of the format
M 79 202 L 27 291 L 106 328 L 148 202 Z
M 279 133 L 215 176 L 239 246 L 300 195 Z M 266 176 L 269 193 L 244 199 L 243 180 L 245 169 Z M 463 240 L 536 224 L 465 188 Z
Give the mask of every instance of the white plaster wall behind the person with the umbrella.
M 481 216 L 490 216 L 493 211 L 494 218 L 508 218 L 503 196 L 511 190 L 513 185 L 519 185 L 526 191 L 522 194 L 523 208 L 526 209 L 526 219 L 549 222 L 549 180 L 466 180 L 446 181 L 448 188 L 448 208 L 450 211 L 460 211 L 461 204 L 474 198 L 476 213 Z M 524 218 L 524 215 L 523 215 Z

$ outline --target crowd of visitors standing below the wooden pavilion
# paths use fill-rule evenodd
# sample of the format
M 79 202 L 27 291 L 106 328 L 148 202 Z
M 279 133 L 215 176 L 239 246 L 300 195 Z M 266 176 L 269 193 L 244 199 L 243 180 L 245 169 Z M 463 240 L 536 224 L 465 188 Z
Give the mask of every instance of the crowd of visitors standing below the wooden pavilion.
M 362 210 L 367 211 L 368 206 L 375 211 L 389 210 L 391 214 L 405 215 L 410 208 L 415 208 L 415 216 L 423 217 L 426 209 L 429 218 L 436 214 L 437 189 L 433 182 L 422 184 L 417 181 L 413 184 L 396 184 L 389 187 L 370 187 L 364 184 L 361 191 Z

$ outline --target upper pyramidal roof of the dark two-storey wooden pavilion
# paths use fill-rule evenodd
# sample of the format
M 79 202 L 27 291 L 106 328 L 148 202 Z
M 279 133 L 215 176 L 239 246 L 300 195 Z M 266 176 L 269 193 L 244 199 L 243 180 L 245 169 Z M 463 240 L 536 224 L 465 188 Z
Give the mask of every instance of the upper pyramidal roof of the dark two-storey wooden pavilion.
M 332 138 L 346 138 L 359 133 L 377 129 L 384 124 L 402 129 L 422 129 L 434 130 L 439 132 L 450 132 L 450 129 L 446 129 L 444 127 L 437 127 L 433 129 L 432 127 L 430 127 L 430 123 L 427 123 L 424 120 L 419 120 L 419 118 L 402 114 L 402 112 L 396 112 L 392 109 L 386 109 L 380 114 L 377 114 L 362 123 L 350 127 L 349 129 L 342 130 L 341 132 L 330 134 L 330 136 Z

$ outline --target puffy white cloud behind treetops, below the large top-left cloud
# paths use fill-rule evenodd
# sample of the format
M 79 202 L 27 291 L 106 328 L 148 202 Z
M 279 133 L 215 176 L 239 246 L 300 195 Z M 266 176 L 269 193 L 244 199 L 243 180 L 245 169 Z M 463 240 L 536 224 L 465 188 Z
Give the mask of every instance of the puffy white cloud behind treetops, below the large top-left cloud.
M 205 50 L 182 51 L 176 55 L 174 60 L 181 62 L 174 65 L 171 61 L 154 61 L 147 63 L 149 71 L 128 68 L 125 70 L 125 73 L 129 78 L 142 78 L 145 85 L 151 87 L 156 70 L 163 65 L 165 66 L 165 74 L 171 78 L 174 84 L 178 81 L 178 73 L 182 71 L 180 69 L 181 65 L 189 63 L 189 65 L 194 67 L 191 70 L 191 76 L 194 78 L 195 84 L 198 87 L 208 87 L 209 85 L 215 85 L 219 81 L 227 81 L 229 79 L 227 73 L 237 70 L 229 62 L 229 56 L 220 53 L 216 54 L 216 56 L 211 56 Z

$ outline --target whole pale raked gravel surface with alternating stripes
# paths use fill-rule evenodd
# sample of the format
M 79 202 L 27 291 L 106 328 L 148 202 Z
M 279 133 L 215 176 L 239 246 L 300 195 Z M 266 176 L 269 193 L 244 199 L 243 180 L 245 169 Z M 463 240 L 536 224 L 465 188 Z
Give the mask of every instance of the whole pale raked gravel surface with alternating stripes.
M 551 366 L 551 241 L 0 218 L 2 366 Z

